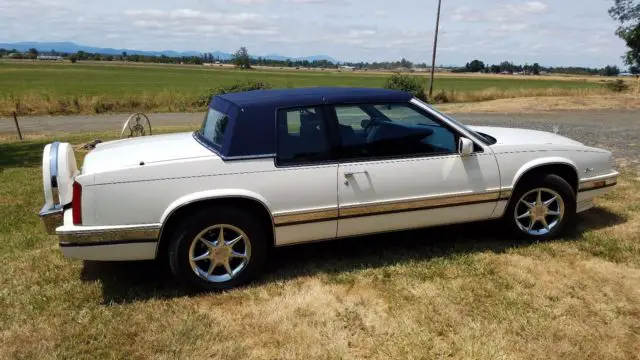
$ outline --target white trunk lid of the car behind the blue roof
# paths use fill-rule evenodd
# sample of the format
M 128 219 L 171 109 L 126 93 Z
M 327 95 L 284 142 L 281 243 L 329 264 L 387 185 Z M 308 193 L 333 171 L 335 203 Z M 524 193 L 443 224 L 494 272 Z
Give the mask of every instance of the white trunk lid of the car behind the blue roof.
M 196 141 L 193 133 L 136 137 L 98 144 L 85 157 L 82 173 L 206 156 L 216 155 Z

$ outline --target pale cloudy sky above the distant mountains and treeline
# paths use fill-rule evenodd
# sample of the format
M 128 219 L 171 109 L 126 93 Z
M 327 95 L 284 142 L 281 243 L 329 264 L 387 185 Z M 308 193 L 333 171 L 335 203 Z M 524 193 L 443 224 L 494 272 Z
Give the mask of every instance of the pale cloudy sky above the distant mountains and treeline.
M 622 65 L 613 0 L 442 0 L 437 64 Z M 437 0 L 0 0 L 0 42 L 431 63 Z

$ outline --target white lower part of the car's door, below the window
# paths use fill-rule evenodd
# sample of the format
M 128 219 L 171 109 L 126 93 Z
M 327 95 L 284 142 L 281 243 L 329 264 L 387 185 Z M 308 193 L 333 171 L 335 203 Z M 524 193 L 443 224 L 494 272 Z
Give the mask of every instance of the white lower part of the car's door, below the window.
M 347 176 L 347 173 L 353 175 Z M 464 211 L 449 208 L 407 211 L 394 216 L 342 217 L 344 213 L 349 216 L 348 209 L 354 206 L 389 202 L 404 206 L 402 204 L 420 199 L 499 192 L 499 174 L 491 150 L 466 157 L 454 154 L 340 164 L 338 237 L 489 219 L 497 198 L 494 202 L 469 206 Z M 371 212 L 372 209 L 364 210 Z

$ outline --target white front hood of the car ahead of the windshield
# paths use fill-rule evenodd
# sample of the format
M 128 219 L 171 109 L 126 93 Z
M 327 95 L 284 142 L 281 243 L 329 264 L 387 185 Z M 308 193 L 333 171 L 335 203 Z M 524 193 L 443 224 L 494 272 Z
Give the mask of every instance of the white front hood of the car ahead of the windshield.
M 497 141 L 495 145 L 583 145 L 578 141 L 545 131 L 491 126 L 469 126 L 469 128 L 495 138 Z

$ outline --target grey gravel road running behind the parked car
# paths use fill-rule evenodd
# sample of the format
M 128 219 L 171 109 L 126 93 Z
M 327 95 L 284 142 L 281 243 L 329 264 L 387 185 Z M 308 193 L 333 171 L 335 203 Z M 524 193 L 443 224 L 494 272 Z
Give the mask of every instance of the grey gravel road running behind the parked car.
M 119 132 L 128 115 L 28 117 L 20 119 L 24 133 Z M 471 125 L 521 127 L 544 131 L 557 129 L 561 135 L 587 145 L 609 149 L 620 165 L 640 170 L 640 112 L 589 111 L 542 114 L 456 114 L 455 118 Z M 201 113 L 150 114 L 153 126 L 198 126 Z M 11 119 L 0 119 L 0 134 L 14 132 Z

